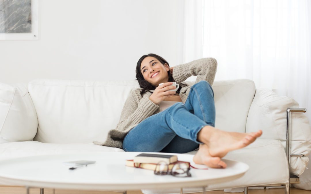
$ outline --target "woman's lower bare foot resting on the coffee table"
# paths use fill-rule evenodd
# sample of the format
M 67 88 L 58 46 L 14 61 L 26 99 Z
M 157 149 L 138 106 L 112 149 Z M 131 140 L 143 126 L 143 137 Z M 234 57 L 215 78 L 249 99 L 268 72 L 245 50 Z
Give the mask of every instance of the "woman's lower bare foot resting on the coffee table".
M 200 144 L 199 150 L 193 156 L 193 161 L 196 164 L 207 165 L 211 168 L 225 168 L 227 166 L 224 161 L 220 160 L 220 157 L 210 155 L 206 144 Z

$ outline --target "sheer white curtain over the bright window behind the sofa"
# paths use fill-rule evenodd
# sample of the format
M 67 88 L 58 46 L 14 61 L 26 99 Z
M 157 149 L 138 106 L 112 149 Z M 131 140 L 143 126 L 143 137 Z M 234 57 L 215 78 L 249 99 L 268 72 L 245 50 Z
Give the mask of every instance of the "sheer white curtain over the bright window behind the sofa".
M 310 0 L 184 0 L 183 62 L 218 61 L 215 80 L 247 78 L 307 108 Z

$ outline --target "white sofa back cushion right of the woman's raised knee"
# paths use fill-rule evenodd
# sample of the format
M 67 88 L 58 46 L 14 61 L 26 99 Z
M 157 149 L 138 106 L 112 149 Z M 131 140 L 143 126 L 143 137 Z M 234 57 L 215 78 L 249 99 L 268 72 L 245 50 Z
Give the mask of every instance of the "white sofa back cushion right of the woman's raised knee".
M 245 133 L 249 107 L 255 95 L 255 83 L 249 79 L 216 81 L 212 86 L 217 129 Z

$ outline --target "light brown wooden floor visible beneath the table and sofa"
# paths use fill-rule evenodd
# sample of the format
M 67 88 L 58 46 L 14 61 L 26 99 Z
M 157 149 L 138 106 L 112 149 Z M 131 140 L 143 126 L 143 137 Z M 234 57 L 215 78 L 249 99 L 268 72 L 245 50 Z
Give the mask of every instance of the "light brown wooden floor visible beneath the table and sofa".
M 39 194 L 39 188 L 30 188 L 30 194 Z M 64 189 L 55 189 L 55 194 L 118 194 L 117 192 L 109 191 L 86 191 L 86 190 L 64 190 Z M 142 194 L 141 191 L 127 191 L 128 194 Z M 240 192 L 238 194 L 242 194 Z M 249 194 L 283 194 L 284 188 L 276 189 L 249 189 Z M 291 188 L 291 194 L 311 194 L 311 191 Z M 7 187 L 0 186 L 0 194 L 26 194 L 26 188 L 24 187 Z M 44 194 L 53 194 L 52 189 L 44 189 Z M 197 193 L 202 194 L 202 193 Z M 207 194 L 230 194 L 223 191 L 209 191 Z

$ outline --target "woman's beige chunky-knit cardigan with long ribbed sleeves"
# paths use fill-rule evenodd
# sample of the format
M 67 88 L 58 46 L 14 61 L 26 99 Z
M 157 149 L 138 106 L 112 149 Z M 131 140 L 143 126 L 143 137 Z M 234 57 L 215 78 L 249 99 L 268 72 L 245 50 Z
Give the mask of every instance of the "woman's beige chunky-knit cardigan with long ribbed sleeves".
M 215 79 L 216 70 L 216 59 L 202 58 L 174 66 L 173 78 L 176 83 L 182 83 L 187 78 L 194 75 L 197 76 L 195 83 L 198 83 L 201 80 L 206 80 L 212 85 Z M 187 85 L 186 87 L 181 88 L 179 92 L 179 96 L 183 103 L 187 100 L 190 87 L 190 85 Z M 138 88 L 131 91 L 124 103 L 116 129 L 111 129 L 108 132 L 107 138 L 104 142 L 94 141 L 94 144 L 123 149 L 123 139 L 131 129 L 149 116 L 161 112 L 160 106 L 156 105 L 149 99 L 154 90 L 144 93 L 143 96 L 140 95 L 141 90 L 142 88 Z

